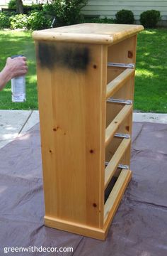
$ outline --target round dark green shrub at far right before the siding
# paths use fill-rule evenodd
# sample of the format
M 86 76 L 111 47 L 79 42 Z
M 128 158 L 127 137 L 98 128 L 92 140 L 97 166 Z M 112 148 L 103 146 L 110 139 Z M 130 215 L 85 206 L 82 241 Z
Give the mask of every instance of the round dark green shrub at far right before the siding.
M 161 20 L 160 11 L 150 10 L 150 11 L 144 11 L 142 14 L 140 14 L 140 23 L 145 28 L 155 28 L 156 24 L 160 20 Z

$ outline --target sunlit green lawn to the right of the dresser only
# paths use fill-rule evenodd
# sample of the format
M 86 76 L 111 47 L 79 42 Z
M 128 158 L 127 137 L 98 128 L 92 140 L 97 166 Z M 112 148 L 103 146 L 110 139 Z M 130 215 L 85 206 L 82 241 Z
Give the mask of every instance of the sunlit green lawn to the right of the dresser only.
M 138 35 L 134 109 L 167 113 L 167 29 Z

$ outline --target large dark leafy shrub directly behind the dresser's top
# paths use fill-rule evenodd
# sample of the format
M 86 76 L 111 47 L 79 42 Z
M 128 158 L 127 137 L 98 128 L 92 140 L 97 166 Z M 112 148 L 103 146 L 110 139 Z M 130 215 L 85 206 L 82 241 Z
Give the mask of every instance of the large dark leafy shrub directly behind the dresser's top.
M 45 4 L 46 14 L 56 18 L 56 26 L 71 25 L 81 21 L 81 9 L 88 0 L 52 0 L 52 4 Z

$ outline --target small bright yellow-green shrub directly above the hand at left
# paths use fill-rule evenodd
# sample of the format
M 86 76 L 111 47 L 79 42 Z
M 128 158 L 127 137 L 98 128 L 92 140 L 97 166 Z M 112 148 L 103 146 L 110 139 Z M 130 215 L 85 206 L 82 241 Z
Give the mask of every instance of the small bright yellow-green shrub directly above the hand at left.
M 11 28 L 27 28 L 28 16 L 26 14 L 16 14 L 11 16 Z

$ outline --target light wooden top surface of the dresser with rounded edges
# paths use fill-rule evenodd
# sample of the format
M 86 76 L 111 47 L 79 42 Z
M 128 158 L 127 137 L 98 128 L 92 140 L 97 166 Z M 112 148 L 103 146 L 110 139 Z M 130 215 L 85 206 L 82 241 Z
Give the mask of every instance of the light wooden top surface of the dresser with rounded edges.
M 142 31 L 141 25 L 82 23 L 34 31 L 35 41 L 64 41 L 111 45 Z

